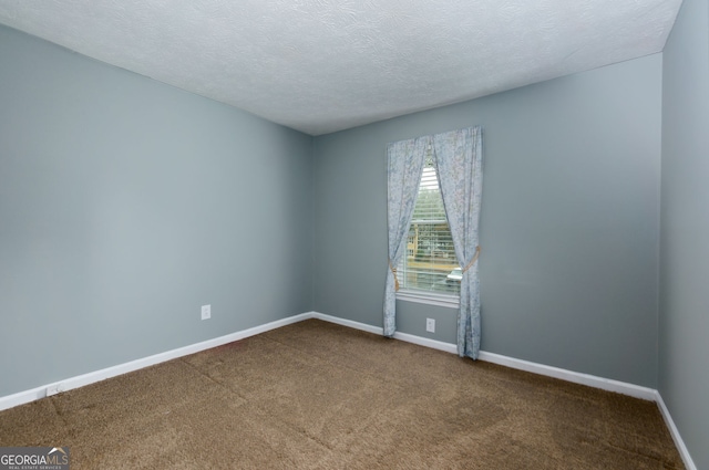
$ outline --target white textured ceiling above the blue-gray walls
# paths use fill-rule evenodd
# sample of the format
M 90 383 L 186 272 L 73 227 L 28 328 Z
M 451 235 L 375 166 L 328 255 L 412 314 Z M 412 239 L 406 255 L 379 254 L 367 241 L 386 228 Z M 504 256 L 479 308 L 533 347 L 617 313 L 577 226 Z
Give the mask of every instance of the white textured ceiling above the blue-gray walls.
M 319 135 L 662 50 L 681 0 L 0 0 L 0 23 Z

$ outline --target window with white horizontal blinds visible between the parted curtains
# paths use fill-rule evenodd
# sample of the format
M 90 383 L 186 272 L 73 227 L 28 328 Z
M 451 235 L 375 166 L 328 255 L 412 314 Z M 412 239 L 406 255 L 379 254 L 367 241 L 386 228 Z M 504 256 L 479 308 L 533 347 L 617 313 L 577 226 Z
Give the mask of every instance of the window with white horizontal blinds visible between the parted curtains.
M 453 239 L 430 154 L 427 155 L 409 228 L 407 255 L 399 262 L 397 274 L 400 299 L 444 296 L 449 297 L 443 300 L 446 304 L 458 302 L 462 272 L 455 259 Z M 451 300 L 453 296 L 455 299 Z

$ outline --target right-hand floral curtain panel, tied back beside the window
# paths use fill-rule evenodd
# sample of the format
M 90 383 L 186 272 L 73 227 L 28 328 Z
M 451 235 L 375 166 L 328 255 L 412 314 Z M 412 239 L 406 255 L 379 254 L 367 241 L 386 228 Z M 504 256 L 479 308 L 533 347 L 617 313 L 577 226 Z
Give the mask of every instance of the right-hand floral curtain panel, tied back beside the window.
M 463 270 L 458 314 L 458 354 L 477 358 L 480 352 L 480 279 L 477 227 L 482 196 L 482 128 L 433 136 L 439 185 L 453 236 L 455 257 Z

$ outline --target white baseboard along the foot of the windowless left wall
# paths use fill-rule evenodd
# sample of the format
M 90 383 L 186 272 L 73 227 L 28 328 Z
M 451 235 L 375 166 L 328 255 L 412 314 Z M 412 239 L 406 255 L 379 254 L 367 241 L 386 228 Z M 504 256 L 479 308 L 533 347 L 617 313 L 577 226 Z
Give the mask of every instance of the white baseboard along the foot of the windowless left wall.
M 301 322 L 304 320 L 311 318 L 311 317 L 312 317 L 311 313 L 301 313 L 299 315 L 294 315 L 287 318 L 277 320 L 275 322 L 266 323 L 264 325 L 254 326 L 253 328 L 230 333 L 228 335 L 219 336 L 213 340 L 207 340 L 202 343 L 191 344 L 188 346 L 179 347 L 177 349 L 167 351 L 165 353 L 155 354 L 153 356 L 143 357 L 141 359 L 131 361 L 124 364 L 119 364 L 116 366 L 107 367 L 101 370 L 94 370 L 88 374 L 70 377 L 60 382 L 32 388 L 30 390 L 24 390 L 13 395 L 0 397 L 0 411 L 3 409 L 23 405 L 25 403 L 34 401 L 40 398 L 44 398 L 47 396 L 51 396 L 61 391 L 71 390 L 72 388 L 83 387 L 85 385 L 104 380 L 106 378 L 115 377 L 117 375 L 126 374 L 129 372 L 142 369 L 144 367 L 164 363 L 166 361 L 175 359 L 177 357 L 186 356 L 189 354 L 198 353 L 201 351 L 209 349 L 212 347 L 222 346 L 227 343 L 243 340 L 248 336 L 254 336 L 259 333 L 265 333 L 269 330 L 279 328 L 281 326 L 286 326 L 291 323 Z

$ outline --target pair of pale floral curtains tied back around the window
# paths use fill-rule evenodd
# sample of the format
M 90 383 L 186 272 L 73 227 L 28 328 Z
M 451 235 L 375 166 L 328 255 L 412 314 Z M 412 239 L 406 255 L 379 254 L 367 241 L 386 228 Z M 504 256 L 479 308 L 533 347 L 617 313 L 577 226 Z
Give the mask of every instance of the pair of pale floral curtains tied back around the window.
M 455 257 L 463 272 L 458 314 L 458 353 L 461 357 L 476 359 L 480 351 L 477 230 L 482 196 L 481 127 L 400 140 L 387 147 L 389 269 L 384 288 L 384 336 L 391 337 L 397 331 L 397 265 L 407 252 L 405 241 L 425 153 L 431 147 Z

